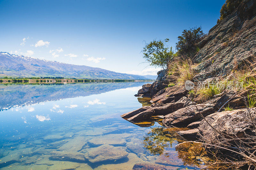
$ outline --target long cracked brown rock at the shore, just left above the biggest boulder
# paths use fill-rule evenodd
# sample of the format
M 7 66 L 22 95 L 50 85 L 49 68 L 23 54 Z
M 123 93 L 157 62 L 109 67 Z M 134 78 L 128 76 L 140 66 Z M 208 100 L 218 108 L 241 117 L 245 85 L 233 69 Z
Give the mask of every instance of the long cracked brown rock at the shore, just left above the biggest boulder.
M 202 120 L 201 114 L 207 116 L 215 111 L 214 104 L 190 105 L 164 116 L 163 124 L 166 127 L 187 127 L 192 122 Z

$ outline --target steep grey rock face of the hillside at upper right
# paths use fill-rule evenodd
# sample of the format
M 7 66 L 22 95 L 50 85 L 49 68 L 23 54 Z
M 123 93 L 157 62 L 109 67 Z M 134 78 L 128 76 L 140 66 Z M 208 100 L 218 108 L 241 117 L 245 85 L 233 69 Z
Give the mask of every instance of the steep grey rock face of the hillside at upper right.
M 205 80 L 244 66 L 256 53 L 256 1 L 244 0 L 229 16 L 210 29 L 193 60 L 200 63 L 195 78 Z

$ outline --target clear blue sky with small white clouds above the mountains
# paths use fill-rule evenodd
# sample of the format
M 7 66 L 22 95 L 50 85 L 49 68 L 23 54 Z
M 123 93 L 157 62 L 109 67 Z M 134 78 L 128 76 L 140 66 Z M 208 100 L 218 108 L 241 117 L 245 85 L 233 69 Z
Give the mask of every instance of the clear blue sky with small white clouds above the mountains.
M 144 40 L 171 40 L 184 29 L 208 33 L 225 0 L 0 0 L 0 51 L 120 73 L 156 75 Z M 142 64 L 140 64 L 142 63 Z M 145 68 L 146 67 L 146 68 Z

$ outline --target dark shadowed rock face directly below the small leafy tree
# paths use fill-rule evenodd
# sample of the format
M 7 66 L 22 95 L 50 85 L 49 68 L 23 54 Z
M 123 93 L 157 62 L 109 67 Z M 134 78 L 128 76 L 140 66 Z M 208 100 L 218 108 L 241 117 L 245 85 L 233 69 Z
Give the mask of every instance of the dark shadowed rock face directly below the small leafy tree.
M 154 83 L 151 84 L 150 97 L 156 95 L 156 93 L 166 87 L 168 87 L 169 81 L 167 79 L 167 70 L 159 71 L 157 79 Z

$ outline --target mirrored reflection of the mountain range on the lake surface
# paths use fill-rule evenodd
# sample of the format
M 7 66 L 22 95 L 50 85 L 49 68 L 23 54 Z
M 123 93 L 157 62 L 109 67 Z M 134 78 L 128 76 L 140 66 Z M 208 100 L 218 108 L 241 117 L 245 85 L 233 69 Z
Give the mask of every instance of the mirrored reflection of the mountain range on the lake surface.
M 15 106 L 89 96 L 115 89 L 138 87 L 143 84 L 145 84 L 145 82 L 0 84 L 0 111 Z M 93 102 L 97 103 L 97 101 L 92 101 L 89 104 L 94 104 Z M 30 110 L 30 112 L 32 112 L 32 110 Z

